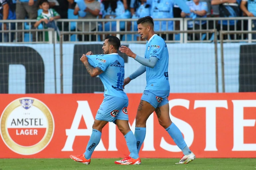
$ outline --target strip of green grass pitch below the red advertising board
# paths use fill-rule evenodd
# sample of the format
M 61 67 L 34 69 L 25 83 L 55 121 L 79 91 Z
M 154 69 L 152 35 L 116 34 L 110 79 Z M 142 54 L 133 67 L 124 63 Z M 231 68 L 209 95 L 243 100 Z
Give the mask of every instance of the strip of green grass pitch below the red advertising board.
M 140 165 L 116 165 L 118 159 L 92 158 L 90 165 L 66 159 L 0 159 L 0 170 L 256 170 L 256 158 L 142 158 Z

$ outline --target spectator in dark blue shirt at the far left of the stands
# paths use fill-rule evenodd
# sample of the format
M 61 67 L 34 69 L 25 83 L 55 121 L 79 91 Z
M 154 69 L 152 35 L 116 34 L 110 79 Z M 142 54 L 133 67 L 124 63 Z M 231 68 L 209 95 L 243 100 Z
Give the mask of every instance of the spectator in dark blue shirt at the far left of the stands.
M 15 10 L 12 0 L 0 0 L 0 20 L 15 20 Z M 0 23 L 0 30 L 14 30 L 15 23 Z M 11 39 L 9 39 L 9 35 Z M 0 32 L 0 42 L 12 42 L 14 40 L 13 33 Z

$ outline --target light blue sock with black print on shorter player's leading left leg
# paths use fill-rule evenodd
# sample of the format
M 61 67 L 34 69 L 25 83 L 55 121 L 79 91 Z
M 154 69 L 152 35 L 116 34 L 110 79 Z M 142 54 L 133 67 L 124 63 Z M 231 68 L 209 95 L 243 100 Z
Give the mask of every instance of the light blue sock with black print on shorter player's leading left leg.
M 92 129 L 90 140 L 87 143 L 86 150 L 84 152 L 85 158 L 90 159 L 91 154 L 94 151 L 95 147 L 99 144 L 101 138 L 101 132 L 96 129 Z

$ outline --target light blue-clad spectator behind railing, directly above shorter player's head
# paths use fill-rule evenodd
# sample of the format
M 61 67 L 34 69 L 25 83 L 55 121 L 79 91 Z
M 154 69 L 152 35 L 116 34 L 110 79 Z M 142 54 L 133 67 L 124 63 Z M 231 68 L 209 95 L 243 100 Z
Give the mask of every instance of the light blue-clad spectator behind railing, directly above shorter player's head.
M 124 4 L 120 0 L 102 0 L 99 18 L 129 19 L 131 18 L 131 12 L 125 10 Z M 116 21 L 106 22 L 102 25 L 102 28 L 104 31 L 116 31 Z M 125 22 L 120 22 L 120 30 L 125 30 Z

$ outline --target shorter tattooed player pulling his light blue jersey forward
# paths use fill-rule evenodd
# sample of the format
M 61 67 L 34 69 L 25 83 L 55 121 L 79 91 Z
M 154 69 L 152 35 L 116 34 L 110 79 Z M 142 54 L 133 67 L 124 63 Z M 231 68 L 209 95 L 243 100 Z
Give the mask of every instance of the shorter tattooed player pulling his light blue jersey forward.
M 92 134 L 85 152 L 81 155 L 70 155 L 70 158 L 74 161 L 86 165 L 90 164 L 92 152 L 100 142 L 102 128 L 108 122 L 113 122 L 124 135 L 130 151 L 130 158 L 121 164 L 141 164 L 136 147 L 136 138 L 128 124 L 128 97 L 123 91 L 124 60 L 117 53 L 119 46 L 120 40 L 115 36 L 109 35 L 102 46 L 104 55 L 92 55 L 92 52 L 89 51 L 80 58 L 90 76 L 99 76 L 102 81 L 104 85 L 104 99 L 97 111 L 92 125 Z

